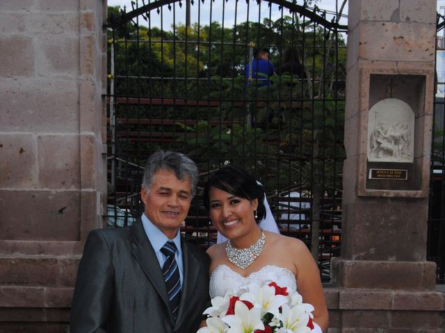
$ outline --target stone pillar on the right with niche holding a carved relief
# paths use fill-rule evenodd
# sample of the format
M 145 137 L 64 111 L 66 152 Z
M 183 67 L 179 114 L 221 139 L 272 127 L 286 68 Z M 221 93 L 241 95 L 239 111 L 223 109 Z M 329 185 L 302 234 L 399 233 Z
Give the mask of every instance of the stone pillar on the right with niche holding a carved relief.
M 436 1 L 350 1 L 348 26 L 345 128 L 353 130 L 345 131 L 331 323 L 341 332 L 445 332 L 445 297 L 426 261 Z M 369 112 L 390 98 L 414 111 L 412 163 L 369 161 Z M 407 180 L 372 180 L 370 167 L 401 169 Z

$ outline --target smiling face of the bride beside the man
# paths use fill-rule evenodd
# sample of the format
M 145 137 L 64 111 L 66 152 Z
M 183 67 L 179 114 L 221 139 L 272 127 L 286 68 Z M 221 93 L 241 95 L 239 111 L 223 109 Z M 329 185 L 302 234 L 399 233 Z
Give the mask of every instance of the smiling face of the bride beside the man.
M 211 187 L 209 199 L 211 221 L 228 239 L 245 237 L 257 225 L 254 219 L 257 199 L 240 198 L 216 187 Z

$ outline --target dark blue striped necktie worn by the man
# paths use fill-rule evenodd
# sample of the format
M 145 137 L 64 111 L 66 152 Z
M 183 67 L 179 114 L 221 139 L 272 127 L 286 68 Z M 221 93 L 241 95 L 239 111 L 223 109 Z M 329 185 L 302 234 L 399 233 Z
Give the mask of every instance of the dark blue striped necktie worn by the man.
M 172 309 L 175 320 L 179 312 L 179 300 L 181 299 L 181 281 L 178 264 L 175 260 L 176 250 L 176 245 L 172 241 L 167 241 L 161 248 L 162 253 L 167 256 L 162 267 L 162 273 L 167 287 L 168 299 L 170 300 L 170 309 Z

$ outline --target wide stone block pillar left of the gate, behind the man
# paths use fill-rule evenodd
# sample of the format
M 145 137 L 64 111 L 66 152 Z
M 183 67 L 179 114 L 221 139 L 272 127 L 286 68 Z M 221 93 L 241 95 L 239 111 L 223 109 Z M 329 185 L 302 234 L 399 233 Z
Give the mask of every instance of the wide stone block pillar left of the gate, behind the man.
M 67 332 L 103 225 L 105 17 L 106 1 L 0 1 L 0 332 Z

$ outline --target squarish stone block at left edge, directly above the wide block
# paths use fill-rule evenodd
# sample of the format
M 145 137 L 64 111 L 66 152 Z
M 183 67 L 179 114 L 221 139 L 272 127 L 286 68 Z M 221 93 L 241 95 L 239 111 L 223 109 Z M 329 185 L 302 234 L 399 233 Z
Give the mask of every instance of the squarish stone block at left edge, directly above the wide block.
M 0 134 L 0 186 L 4 189 L 38 187 L 35 135 Z

